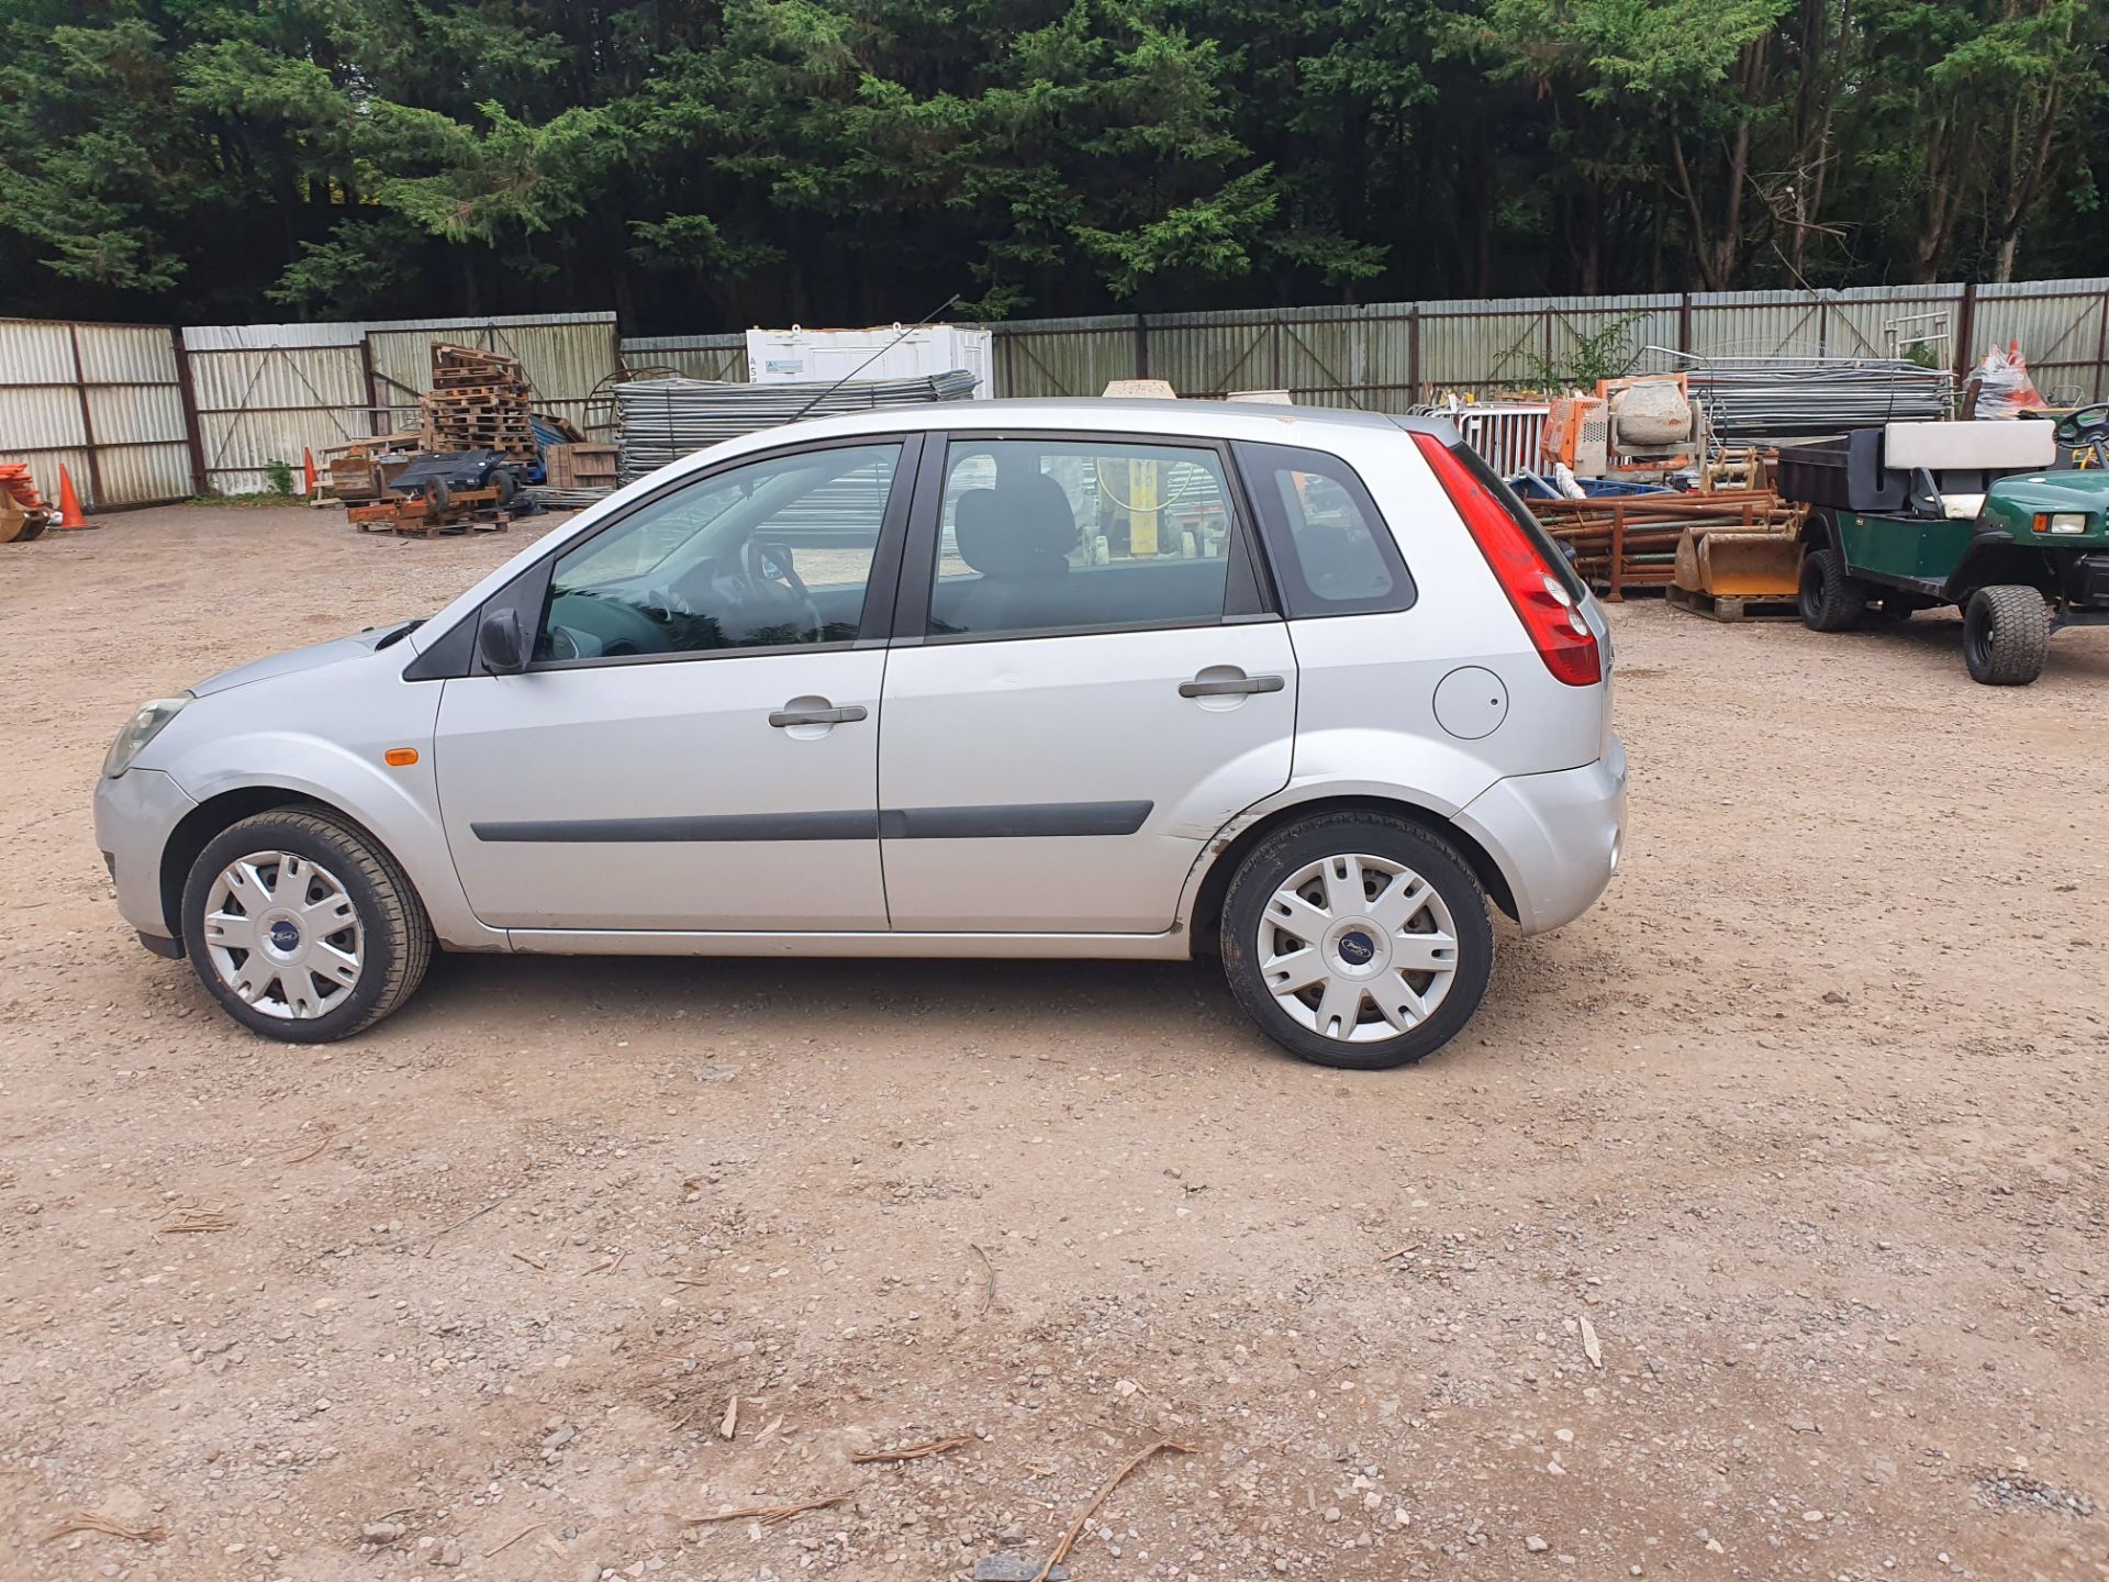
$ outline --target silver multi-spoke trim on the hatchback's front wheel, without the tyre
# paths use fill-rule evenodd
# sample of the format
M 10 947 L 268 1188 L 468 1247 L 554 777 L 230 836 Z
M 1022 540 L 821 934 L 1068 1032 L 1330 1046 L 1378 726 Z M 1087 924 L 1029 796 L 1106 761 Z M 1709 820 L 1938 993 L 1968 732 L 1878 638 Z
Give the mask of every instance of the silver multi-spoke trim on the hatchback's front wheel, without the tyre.
M 247 1006 L 314 1021 L 359 987 L 367 932 L 344 880 L 297 852 L 249 852 L 205 896 L 213 972 Z

